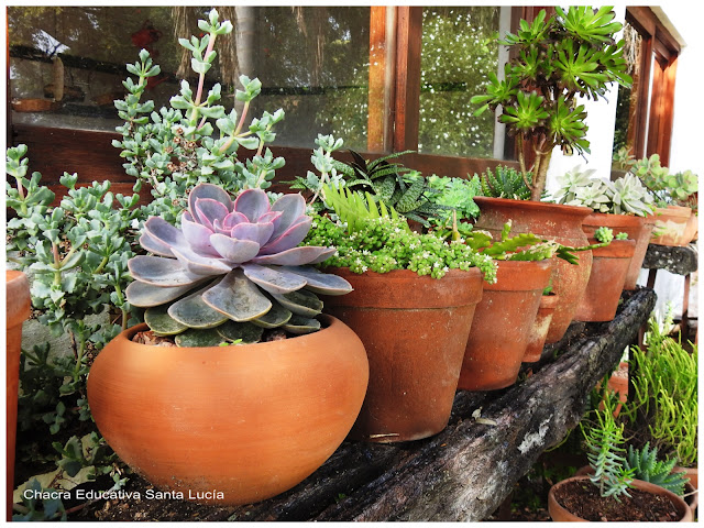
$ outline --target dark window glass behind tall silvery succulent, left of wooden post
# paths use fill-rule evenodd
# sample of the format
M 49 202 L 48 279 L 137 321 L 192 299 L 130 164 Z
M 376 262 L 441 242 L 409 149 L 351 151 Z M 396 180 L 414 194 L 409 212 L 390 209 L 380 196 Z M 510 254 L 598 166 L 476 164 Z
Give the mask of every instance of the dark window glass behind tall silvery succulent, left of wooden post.
M 200 35 L 197 21 L 207 11 L 8 8 L 13 121 L 113 130 L 121 124 L 112 100 L 124 97 L 124 65 L 134 63 L 142 47 L 162 67 L 146 96 L 157 108 L 167 106 L 183 78 L 179 66 L 193 76 L 175 31 L 179 36 Z M 369 8 L 224 7 L 219 12 L 235 31 L 218 40 L 219 59 L 206 84 L 223 85 L 226 108 L 235 105 L 234 79 L 241 74 L 258 77 L 262 96 L 250 117 L 286 111 L 275 131 L 276 144 L 311 146 L 318 133 L 333 133 L 350 147 L 365 147 Z

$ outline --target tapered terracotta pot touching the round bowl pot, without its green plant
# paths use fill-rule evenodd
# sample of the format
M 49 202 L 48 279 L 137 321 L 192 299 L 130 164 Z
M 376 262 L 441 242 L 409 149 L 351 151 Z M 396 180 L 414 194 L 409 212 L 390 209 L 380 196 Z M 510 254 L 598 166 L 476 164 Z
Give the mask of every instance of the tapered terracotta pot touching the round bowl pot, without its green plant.
M 450 270 L 442 278 L 396 270 L 334 271 L 354 290 L 324 298 L 326 311 L 362 339 L 370 387 L 351 438 L 418 440 L 448 425 L 482 274 Z

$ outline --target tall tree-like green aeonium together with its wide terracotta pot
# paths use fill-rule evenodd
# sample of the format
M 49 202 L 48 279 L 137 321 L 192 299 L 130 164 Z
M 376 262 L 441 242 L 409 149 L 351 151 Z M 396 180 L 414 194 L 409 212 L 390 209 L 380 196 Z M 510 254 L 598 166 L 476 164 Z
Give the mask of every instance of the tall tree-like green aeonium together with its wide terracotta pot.
M 556 13 L 548 18 L 540 11 L 531 23 L 520 21 L 517 34 L 506 35 L 502 43 L 515 53 L 505 78 L 490 76 L 486 94 L 472 98 L 473 103 L 481 105 L 475 113 L 501 106 L 498 120 L 516 136 L 520 173 L 531 189 L 531 201 L 477 197 L 482 211 L 477 227 L 497 234 L 512 218 L 518 231 L 582 246 L 587 241 L 581 224 L 591 210 L 539 201 L 552 151 L 559 146 L 588 152 L 586 111 L 578 97 L 598 99 L 612 82 L 629 86 L 631 79 L 622 57 L 623 41 L 614 41 L 622 24 L 614 22 L 612 8 L 556 8 Z M 552 285 L 559 305 L 548 342 L 558 341 L 570 324 L 586 288 L 591 264 L 591 256 L 585 254 L 579 266 L 558 263 L 554 267 Z

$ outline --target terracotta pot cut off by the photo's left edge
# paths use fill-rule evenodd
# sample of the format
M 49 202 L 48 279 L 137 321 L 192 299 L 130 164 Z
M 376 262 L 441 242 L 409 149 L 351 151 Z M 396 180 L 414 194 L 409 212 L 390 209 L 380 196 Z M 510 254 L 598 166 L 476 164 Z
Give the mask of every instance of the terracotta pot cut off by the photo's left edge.
M 30 282 L 22 272 L 6 272 L 7 293 L 7 519 L 12 520 L 12 492 L 14 490 L 14 447 L 18 428 L 18 391 L 20 387 L 20 355 L 22 323 L 32 315 Z

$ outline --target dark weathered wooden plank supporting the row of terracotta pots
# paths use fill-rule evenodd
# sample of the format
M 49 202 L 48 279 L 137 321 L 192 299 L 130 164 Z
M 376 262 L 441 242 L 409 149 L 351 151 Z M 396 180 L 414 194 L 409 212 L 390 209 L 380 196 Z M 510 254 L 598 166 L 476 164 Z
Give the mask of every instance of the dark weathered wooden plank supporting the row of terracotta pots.
M 540 453 L 579 422 L 591 388 L 617 364 L 654 301 L 648 288 L 624 293 L 613 321 L 573 323 L 513 387 L 459 392 L 450 425 L 433 438 L 404 444 L 344 442 L 287 493 L 242 507 L 189 505 L 190 517 L 180 520 L 484 519 Z M 493 425 L 472 417 L 480 408 Z M 145 485 L 133 479 L 128 490 L 143 493 Z M 101 506 L 88 509 L 100 518 Z M 134 506 L 122 509 L 125 520 L 135 518 Z M 144 506 L 139 508 L 143 513 Z M 176 520 L 169 510 L 173 502 L 151 501 L 139 520 Z

